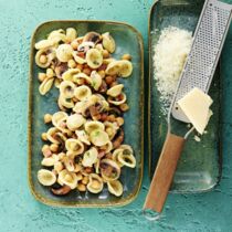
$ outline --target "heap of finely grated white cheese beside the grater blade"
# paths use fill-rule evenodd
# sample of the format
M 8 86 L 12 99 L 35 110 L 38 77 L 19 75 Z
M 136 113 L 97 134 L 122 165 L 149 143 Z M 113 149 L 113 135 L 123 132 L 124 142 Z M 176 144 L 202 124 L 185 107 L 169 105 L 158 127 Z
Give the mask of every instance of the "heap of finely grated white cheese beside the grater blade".
M 161 31 L 155 46 L 155 80 L 165 115 L 171 104 L 191 44 L 191 32 L 169 27 Z

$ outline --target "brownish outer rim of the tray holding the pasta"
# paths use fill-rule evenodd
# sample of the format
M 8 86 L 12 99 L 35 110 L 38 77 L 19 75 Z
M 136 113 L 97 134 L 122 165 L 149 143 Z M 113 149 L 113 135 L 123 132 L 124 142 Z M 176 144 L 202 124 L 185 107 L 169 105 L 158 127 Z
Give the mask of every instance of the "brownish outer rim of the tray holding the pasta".
M 139 171 L 139 179 L 136 183 L 135 191 L 129 193 L 126 198 L 122 198 L 119 201 L 107 201 L 104 203 L 89 203 L 88 201 L 84 202 L 81 201 L 81 203 L 76 203 L 75 201 L 54 201 L 49 198 L 44 198 L 41 196 L 34 188 L 33 181 L 32 181 L 32 168 L 31 168 L 31 160 L 32 160 L 32 106 L 33 106 L 33 99 L 32 99 L 32 86 L 33 86 L 33 51 L 34 51 L 34 39 L 36 35 L 38 30 L 41 27 L 44 27 L 45 24 L 49 23 L 57 23 L 57 22 L 63 22 L 63 23 L 98 23 L 98 24 L 114 24 L 114 25 L 125 25 L 129 30 L 131 30 L 138 40 L 139 44 L 139 55 L 140 55 L 140 75 L 139 75 L 139 82 L 141 86 L 140 91 L 140 97 L 139 97 L 139 105 L 141 106 L 141 114 L 139 117 L 140 122 L 140 171 Z M 50 207 L 61 207 L 61 208 L 105 208 L 105 207 L 123 207 L 126 204 L 129 204 L 133 202 L 139 193 L 139 190 L 141 188 L 141 182 L 143 182 L 143 176 L 144 176 L 144 41 L 143 41 L 143 35 L 141 33 L 134 28 L 133 25 L 126 23 L 126 22 L 120 22 L 120 21 L 110 21 L 110 20 L 49 20 L 45 22 L 40 23 L 35 30 L 32 33 L 31 41 L 30 41 L 30 57 L 29 57 L 29 63 L 30 63 L 30 71 L 29 71 L 29 94 L 28 94 L 28 182 L 29 182 L 29 189 L 32 193 L 32 196 L 40 202 L 50 205 Z

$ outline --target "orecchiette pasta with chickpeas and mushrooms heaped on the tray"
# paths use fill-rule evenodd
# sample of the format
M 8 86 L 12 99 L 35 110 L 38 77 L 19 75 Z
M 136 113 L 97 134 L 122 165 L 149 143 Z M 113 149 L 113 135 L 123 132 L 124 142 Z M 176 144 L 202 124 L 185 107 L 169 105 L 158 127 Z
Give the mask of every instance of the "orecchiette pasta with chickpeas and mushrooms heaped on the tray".
M 122 171 L 136 166 L 133 148 L 123 145 L 123 114 L 129 107 L 118 82 L 133 73 L 131 62 L 112 56 L 116 43 L 109 32 L 78 36 L 74 28 L 57 29 L 34 48 L 35 63 L 46 68 L 39 73 L 39 92 L 45 95 L 54 84 L 60 108 L 45 120 L 51 127 L 42 135 L 48 144 L 39 182 L 59 196 L 99 193 L 104 186 L 122 196 Z

